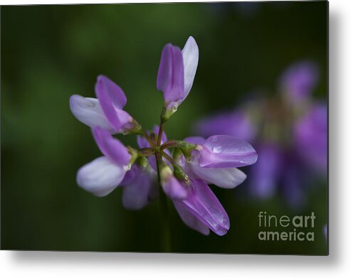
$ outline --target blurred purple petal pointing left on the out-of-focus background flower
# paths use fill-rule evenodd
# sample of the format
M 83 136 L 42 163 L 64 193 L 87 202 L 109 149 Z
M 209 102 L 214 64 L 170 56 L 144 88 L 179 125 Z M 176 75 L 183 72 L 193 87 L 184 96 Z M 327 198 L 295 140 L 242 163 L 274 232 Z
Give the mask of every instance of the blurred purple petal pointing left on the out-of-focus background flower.
M 248 113 L 243 110 L 206 117 L 196 124 L 195 130 L 204 137 L 219 134 L 245 141 L 253 141 L 257 132 Z

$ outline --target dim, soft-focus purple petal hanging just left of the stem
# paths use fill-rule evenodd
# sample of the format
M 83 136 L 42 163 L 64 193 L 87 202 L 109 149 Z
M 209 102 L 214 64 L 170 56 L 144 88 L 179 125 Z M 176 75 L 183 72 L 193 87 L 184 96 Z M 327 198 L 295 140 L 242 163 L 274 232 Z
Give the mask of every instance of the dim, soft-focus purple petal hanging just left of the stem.
M 139 210 L 148 203 L 152 181 L 149 173 L 142 171 L 137 165 L 133 165 L 132 169 L 125 175 L 122 181 L 123 196 L 122 202 L 125 208 L 130 210 Z

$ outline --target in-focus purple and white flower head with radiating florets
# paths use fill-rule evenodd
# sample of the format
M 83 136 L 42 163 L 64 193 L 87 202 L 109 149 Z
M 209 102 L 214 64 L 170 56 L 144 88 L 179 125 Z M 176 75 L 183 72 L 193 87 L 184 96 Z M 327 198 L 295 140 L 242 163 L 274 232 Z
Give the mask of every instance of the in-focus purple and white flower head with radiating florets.
M 97 99 L 70 97 L 72 113 L 91 127 L 103 154 L 79 169 L 77 183 L 100 197 L 122 187 L 122 203 L 129 209 L 143 208 L 165 194 L 190 228 L 204 235 L 209 230 L 225 235 L 229 216 L 208 184 L 238 186 L 246 175 L 237 167 L 254 164 L 258 155 L 246 141 L 226 135 L 167 139 L 164 126 L 192 89 L 198 61 L 199 48 L 192 36 L 182 50 L 172 44 L 164 46 L 157 74 L 164 106 L 160 124 L 152 131 L 144 131 L 123 110 L 125 93 L 108 77 L 98 76 Z M 136 134 L 139 148 L 124 146 L 114 134 Z

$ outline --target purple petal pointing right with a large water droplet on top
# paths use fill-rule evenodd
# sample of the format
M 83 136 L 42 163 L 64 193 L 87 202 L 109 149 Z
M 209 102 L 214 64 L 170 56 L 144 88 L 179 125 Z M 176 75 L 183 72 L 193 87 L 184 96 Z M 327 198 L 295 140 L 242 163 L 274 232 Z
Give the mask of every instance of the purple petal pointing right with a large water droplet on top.
M 199 165 L 205 168 L 234 168 L 254 164 L 258 154 L 246 141 L 214 135 L 202 145 Z

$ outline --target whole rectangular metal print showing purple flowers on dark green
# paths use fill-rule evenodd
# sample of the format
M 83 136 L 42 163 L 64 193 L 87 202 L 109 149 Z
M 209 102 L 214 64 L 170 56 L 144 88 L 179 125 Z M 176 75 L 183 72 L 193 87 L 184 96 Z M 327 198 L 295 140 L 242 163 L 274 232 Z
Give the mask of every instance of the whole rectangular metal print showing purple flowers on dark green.
M 1 248 L 328 255 L 328 2 L 1 7 Z

